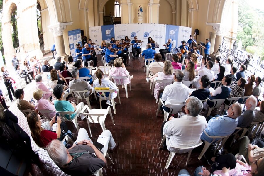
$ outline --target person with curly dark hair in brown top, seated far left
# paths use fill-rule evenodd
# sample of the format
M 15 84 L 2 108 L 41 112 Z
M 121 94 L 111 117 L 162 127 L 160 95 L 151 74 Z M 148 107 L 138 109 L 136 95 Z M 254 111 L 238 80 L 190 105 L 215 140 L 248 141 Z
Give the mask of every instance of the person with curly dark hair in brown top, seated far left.
M 17 99 L 17 102 L 16 102 L 17 108 L 20 111 L 31 109 L 31 110 L 35 111 L 36 113 L 38 113 L 38 111 L 35 110 L 35 106 L 33 105 L 33 102 L 31 104 L 29 101 L 23 100 L 24 95 L 25 95 L 25 93 L 24 93 L 23 89 L 17 89 L 15 91 L 15 97 Z

